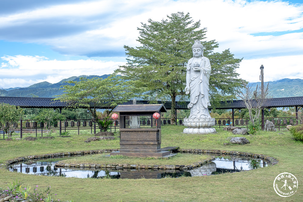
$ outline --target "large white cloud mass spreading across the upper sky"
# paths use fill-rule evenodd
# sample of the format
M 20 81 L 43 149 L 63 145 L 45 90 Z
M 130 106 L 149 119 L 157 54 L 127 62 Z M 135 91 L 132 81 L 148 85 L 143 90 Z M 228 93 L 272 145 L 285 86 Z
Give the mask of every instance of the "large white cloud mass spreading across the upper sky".
M 123 45 L 138 45 L 137 27 L 148 18 L 159 21 L 167 14 L 190 12 L 194 21 L 201 20 L 201 27 L 208 28 L 208 38 L 216 39 L 220 50 L 231 48 L 239 57 L 247 55 L 303 51 L 303 35 L 292 33 L 282 36 L 253 36 L 259 32 L 294 31 L 303 28 L 303 5 L 282 1 L 243 0 L 149 0 L 149 1 L 93 1 L 39 8 L 33 11 L 0 17 L 0 29 L 5 27 L 49 23 L 60 27 L 72 26 L 76 31 L 62 33 L 54 29 L 45 33 L 39 23 L 32 35 L 26 38 L 8 33 L 3 38 L 16 41 L 47 44 L 54 50 L 68 55 L 90 55 L 123 51 Z M 60 20 L 58 20 L 60 19 Z M 91 26 L 88 26 L 91 25 Z M 77 27 L 78 26 L 78 27 Z M 29 34 L 30 35 L 30 34 Z M 43 37 L 45 35 L 45 37 Z M 271 52 L 272 51 L 272 52 Z

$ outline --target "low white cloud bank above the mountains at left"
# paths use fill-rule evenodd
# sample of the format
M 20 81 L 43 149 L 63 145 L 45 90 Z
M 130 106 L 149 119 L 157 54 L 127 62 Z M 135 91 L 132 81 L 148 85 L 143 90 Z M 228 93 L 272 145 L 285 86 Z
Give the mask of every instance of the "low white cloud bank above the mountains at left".
M 58 61 L 28 55 L 4 56 L 1 59 L 6 62 L 0 65 L 0 88 L 25 87 L 42 81 L 57 83 L 71 76 L 112 74 L 119 65 L 125 65 L 115 61 Z

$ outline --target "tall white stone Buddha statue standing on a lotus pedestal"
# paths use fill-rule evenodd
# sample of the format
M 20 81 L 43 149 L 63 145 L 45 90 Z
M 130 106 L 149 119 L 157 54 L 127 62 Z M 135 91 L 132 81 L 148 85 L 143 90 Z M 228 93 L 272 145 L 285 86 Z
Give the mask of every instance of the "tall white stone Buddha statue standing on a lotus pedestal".
M 211 118 L 209 102 L 209 76 L 211 65 L 209 59 L 203 56 L 204 47 L 201 41 L 195 41 L 192 46 L 193 56 L 186 67 L 185 93 L 190 94 L 190 115 L 184 119 L 184 133 L 215 133 L 215 119 Z

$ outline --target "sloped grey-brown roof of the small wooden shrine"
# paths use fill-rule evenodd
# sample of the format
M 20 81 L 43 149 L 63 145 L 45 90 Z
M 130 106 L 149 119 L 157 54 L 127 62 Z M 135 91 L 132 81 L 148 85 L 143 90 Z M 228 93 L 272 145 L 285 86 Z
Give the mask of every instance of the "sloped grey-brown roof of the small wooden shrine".
M 167 112 L 164 104 L 120 104 L 113 112 Z

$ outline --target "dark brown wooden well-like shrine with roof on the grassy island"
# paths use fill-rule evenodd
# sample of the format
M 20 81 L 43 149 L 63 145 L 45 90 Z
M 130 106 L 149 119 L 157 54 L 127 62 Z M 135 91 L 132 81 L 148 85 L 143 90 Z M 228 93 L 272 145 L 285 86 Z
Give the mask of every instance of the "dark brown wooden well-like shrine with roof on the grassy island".
M 120 115 L 120 151 L 110 155 L 130 157 L 165 157 L 169 151 L 161 151 L 161 121 L 154 119 L 155 112 L 167 112 L 163 104 L 125 104 L 118 105 L 113 112 Z M 132 116 L 151 118 L 151 124 L 131 128 Z

